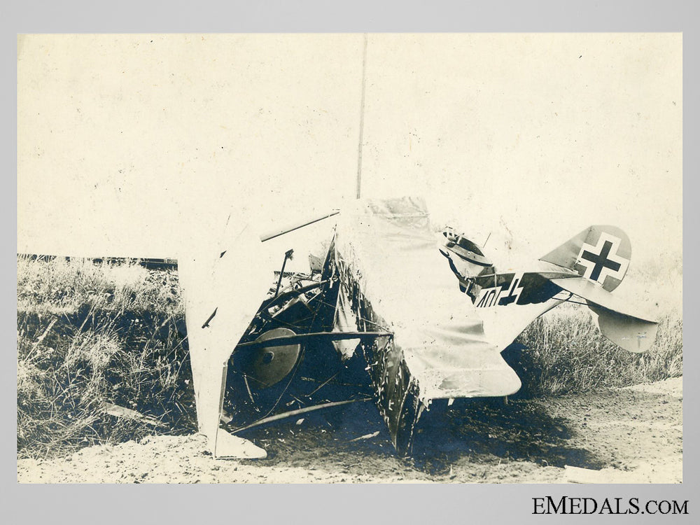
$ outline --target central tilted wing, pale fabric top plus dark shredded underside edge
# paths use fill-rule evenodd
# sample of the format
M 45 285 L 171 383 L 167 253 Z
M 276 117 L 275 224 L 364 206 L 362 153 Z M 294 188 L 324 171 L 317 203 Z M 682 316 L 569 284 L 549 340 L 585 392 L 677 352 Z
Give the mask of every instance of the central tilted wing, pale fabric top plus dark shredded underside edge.
M 510 395 L 521 384 L 438 249 L 421 199 L 358 202 L 339 219 L 325 277 L 341 281 L 338 318 L 386 330 L 363 348 L 399 451 L 429 400 Z

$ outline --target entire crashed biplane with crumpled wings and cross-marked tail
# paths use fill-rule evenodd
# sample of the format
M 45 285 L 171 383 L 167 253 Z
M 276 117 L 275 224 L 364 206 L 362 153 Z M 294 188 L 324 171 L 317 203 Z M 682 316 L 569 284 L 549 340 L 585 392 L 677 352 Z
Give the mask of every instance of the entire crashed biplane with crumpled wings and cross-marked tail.
M 325 258 L 312 256 L 308 274 L 284 271 L 290 251 L 274 274 L 280 254 L 236 221 L 179 256 L 197 419 L 217 457 L 264 457 L 235 435 L 257 421 L 358 399 L 312 403 L 343 370 L 364 381 L 396 451 L 410 454 L 433 400 L 517 392 L 501 351 L 563 302 L 587 304 L 628 351 L 654 341 L 656 323 L 610 293 L 631 256 L 618 228 L 591 226 L 525 271 L 498 272 L 470 239 L 433 232 L 420 199 L 360 200 L 334 218 Z M 290 393 L 295 381 L 304 395 Z

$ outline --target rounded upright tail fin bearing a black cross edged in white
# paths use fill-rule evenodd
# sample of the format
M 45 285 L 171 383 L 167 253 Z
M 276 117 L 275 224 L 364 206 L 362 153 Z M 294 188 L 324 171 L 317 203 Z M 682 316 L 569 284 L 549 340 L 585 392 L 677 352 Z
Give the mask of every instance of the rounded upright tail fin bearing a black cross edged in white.
M 584 279 L 615 290 L 627 272 L 632 248 L 629 237 L 615 226 L 589 226 L 540 260 L 567 268 Z

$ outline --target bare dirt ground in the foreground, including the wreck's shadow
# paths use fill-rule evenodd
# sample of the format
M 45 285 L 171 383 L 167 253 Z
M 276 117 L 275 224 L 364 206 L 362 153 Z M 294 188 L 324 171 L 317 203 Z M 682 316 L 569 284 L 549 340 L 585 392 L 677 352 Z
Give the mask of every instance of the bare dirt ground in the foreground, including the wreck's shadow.
M 559 483 L 570 465 L 598 470 L 599 482 L 682 482 L 682 378 L 507 405 L 458 400 L 423 416 L 411 458 L 393 454 L 376 412 L 356 403 L 249 430 L 264 460 L 216 460 L 202 436 L 159 436 L 21 459 L 18 481 Z

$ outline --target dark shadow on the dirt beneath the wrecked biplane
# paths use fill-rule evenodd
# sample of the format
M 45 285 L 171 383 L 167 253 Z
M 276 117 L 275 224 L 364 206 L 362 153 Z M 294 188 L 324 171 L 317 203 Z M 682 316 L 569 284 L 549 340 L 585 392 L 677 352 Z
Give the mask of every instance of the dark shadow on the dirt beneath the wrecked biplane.
M 446 400 L 433 402 L 406 458 L 395 454 L 372 402 L 278 421 L 241 436 L 265 447 L 269 465 L 314 470 L 322 463 L 353 475 L 414 471 L 441 476 L 463 458 L 475 463 L 508 459 L 542 466 L 605 467 L 603 459 L 577 446 L 565 419 L 550 416 L 541 403 L 528 400 L 505 405 L 502 398 L 465 399 L 449 408 Z

